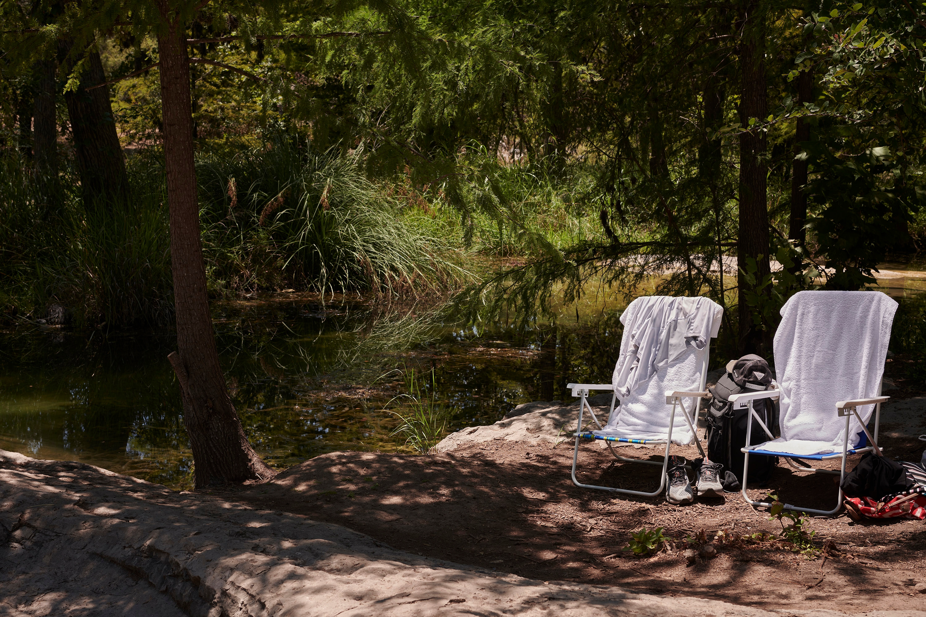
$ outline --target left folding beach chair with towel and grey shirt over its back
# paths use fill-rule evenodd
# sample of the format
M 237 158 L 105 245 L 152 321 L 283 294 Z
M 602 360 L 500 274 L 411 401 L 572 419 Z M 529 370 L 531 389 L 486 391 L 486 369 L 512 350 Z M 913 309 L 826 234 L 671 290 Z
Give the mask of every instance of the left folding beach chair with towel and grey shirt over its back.
M 658 367 L 654 365 L 653 374 L 644 382 L 628 386 L 626 380 L 622 379 L 622 375 L 625 376 L 626 374 L 626 371 L 623 371 L 622 368 L 630 366 L 628 363 L 632 362 L 645 364 L 658 360 L 652 353 L 648 353 L 653 350 L 640 349 L 639 344 L 641 341 L 635 339 L 635 336 L 640 333 L 640 327 L 647 326 L 646 323 L 641 324 L 640 315 L 651 315 L 652 311 L 647 312 L 647 309 L 651 308 L 654 303 L 673 307 L 671 310 L 674 310 L 675 313 L 671 313 L 670 310 L 669 316 L 667 316 L 666 312 L 654 315 L 655 321 L 661 319 L 662 323 L 650 325 L 657 329 L 659 327 L 663 328 L 660 330 L 661 334 L 659 335 L 663 343 L 675 336 L 677 344 L 681 345 L 676 349 L 682 351 L 671 359 L 662 358 L 663 362 Z M 682 315 L 683 318 L 701 317 L 707 319 L 707 336 L 701 337 L 700 340 L 694 340 L 697 337 L 680 339 L 684 325 L 682 319 L 677 318 L 679 315 Z M 704 450 L 702 450 L 697 437 L 697 411 L 699 402 L 707 396 L 704 388 L 707 379 L 709 342 L 711 338 L 717 337 L 722 315 L 723 308 L 720 304 L 707 298 L 647 296 L 637 298 L 630 303 L 623 315 L 620 316 L 620 321 L 625 327 L 620 341 L 620 358 L 615 367 L 615 376 L 612 383 L 569 384 L 568 386 L 572 390 L 572 396 L 580 399 L 578 425 L 574 433 L 575 450 L 572 454 L 572 482 L 577 487 L 655 497 L 666 486 L 669 447 L 672 443 L 684 446 L 694 440 L 698 450 L 701 450 L 702 456 L 704 455 Z M 634 326 L 635 331 L 628 331 L 628 324 Z M 675 327 L 675 335 L 670 332 L 673 327 Z M 602 426 L 598 421 L 594 410 L 588 403 L 589 393 L 594 390 L 609 390 L 613 393 L 605 426 Z M 680 410 L 684 422 L 677 426 L 677 412 Z M 585 412 L 591 414 L 597 430 L 583 429 Z M 611 454 L 621 462 L 661 466 L 662 474 L 659 487 L 653 492 L 646 492 L 629 488 L 599 487 L 592 484 L 583 484 L 576 478 L 579 446 L 583 440 L 604 441 Z M 611 447 L 612 443 L 665 444 L 664 460 L 659 463 L 657 461 L 644 461 L 620 456 Z

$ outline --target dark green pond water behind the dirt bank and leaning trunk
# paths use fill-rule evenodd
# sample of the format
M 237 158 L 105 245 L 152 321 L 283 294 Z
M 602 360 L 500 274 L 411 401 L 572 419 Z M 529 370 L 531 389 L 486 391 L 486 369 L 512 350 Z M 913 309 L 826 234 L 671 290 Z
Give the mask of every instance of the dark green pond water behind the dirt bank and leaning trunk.
M 905 271 L 880 282 L 903 297 L 923 279 Z M 555 324 L 464 328 L 426 309 L 383 316 L 371 302 L 277 294 L 218 302 L 213 317 L 244 430 L 285 467 L 333 450 L 411 451 L 391 435 L 389 410 L 402 411 L 390 401 L 412 371 L 433 380 L 449 430 L 491 424 L 521 402 L 570 400 L 570 381 L 609 380 L 620 308 L 591 299 L 561 309 Z M 169 331 L 0 331 L 0 449 L 189 487 L 172 344 Z

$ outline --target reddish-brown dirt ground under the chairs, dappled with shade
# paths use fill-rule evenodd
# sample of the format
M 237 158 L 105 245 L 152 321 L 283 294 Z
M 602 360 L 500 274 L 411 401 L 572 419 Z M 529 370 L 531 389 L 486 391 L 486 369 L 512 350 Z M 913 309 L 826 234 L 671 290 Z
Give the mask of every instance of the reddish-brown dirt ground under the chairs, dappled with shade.
M 883 439 L 895 455 L 919 458 L 921 442 Z M 916 450 L 919 448 L 920 450 Z M 909 450 L 909 451 L 907 451 Z M 694 446 L 675 450 L 694 458 Z M 660 460 L 660 450 L 622 450 Z M 782 542 L 714 541 L 770 532 L 781 524 L 741 496 L 673 506 L 575 487 L 570 443 L 528 445 L 494 440 L 449 454 L 410 456 L 334 452 L 290 468 L 226 499 L 344 524 L 419 555 L 493 568 L 544 581 L 618 585 L 636 592 L 731 601 L 766 610 L 921 610 L 926 594 L 926 524 L 892 520 L 856 524 L 845 516 L 811 519 L 827 550 L 811 558 Z M 857 459 L 858 457 L 854 457 Z M 581 479 L 622 487 L 657 486 L 655 465 L 617 463 L 594 445 L 582 448 Z M 855 460 L 850 460 L 849 468 Z M 239 492 L 240 491 L 240 492 Z M 781 463 L 757 499 L 829 509 L 832 476 L 798 473 Z M 649 557 L 624 551 L 634 531 L 664 527 L 677 540 L 702 530 L 717 556 L 689 564 L 682 550 Z

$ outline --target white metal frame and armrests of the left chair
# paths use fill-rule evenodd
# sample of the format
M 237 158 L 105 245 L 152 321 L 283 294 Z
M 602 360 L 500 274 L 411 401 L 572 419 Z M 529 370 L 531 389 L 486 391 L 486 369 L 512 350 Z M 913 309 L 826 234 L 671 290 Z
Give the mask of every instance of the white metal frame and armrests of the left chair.
M 707 380 L 707 359 L 705 359 L 704 368 L 701 370 L 701 389 L 704 390 L 705 382 Z M 592 419 L 594 424 L 598 426 L 598 430 L 602 429 L 601 423 L 598 422 L 597 416 L 595 416 L 592 406 L 588 404 L 588 393 L 592 390 L 610 390 L 614 392 L 614 386 L 611 384 L 568 384 L 566 386 L 569 389 L 572 389 L 572 396 L 580 398 L 579 403 L 579 423 L 576 425 L 576 432 L 573 433 L 573 437 L 576 438 L 575 449 L 572 452 L 572 484 L 577 487 L 582 488 L 595 488 L 597 490 L 608 490 L 615 493 L 626 493 L 628 495 L 637 495 L 640 497 L 656 497 L 659 493 L 662 492 L 662 489 L 666 487 L 666 471 L 669 468 L 669 447 L 672 445 L 672 426 L 675 425 L 675 410 L 677 407 L 682 407 L 682 415 L 685 418 L 685 422 L 688 424 L 688 427 L 694 435 L 694 443 L 697 445 L 698 450 L 701 452 L 701 455 L 704 456 L 704 450 L 701 448 L 701 442 L 698 440 L 697 436 L 697 410 L 700 406 L 701 399 L 710 396 L 708 392 L 698 391 L 698 392 L 686 392 L 678 390 L 667 390 L 666 391 L 666 404 L 672 406 L 671 415 L 669 415 L 669 432 L 666 435 L 665 439 L 632 439 L 632 438 L 607 438 L 607 437 L 598 437 L 596 439 L 602 440 L 607 444 L 607 449 L 610 450 L 611 454 L 622 463 L 644 463 L 648 465 L 660 465 L 662 467 L 662 474 L 660 475 L 659 487 L 652 493 L 647 493 L 641 490 L 631 490 L 630 488 L 617 488 L 617 487 L 599 487 L 594 484 L 582 484 L 576 478 L 576 466 L 579 463 L 579 444 L 582 438 L 585 438 L 587 433 L 582 432 L 582 415 L 585 409 L 588 409 L 588 412 L 592 414 Z M 692 417 L 688 414 L 688 410 L 685 408 L 685 403 L 682 401 L 683 398 L 694 398 L 696 401 L 693 405 L 694 412 L 694 422 Z M 614 403 L 618 399 L 617 392 L 611 396 L 611 408 L 608 411 L 608 417 L 611 413 L 614 413 Z M 643 459 L 634 459 L 631 457 L 620 456 L 614 449 L 611 447 L 609 442 L 619 442 L 619 443 L 645 443 L 645 444 L 666 444 L 666 450 L 663 456 L 662 463 L 657 461 L 644 461 Z M 690 469 L 688 465 L 685 465 L 686 469 Z

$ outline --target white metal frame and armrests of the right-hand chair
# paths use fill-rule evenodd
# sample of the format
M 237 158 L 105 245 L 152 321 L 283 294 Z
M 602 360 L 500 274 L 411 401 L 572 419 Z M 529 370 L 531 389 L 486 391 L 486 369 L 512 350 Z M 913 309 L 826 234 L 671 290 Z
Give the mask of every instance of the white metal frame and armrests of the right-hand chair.
M 756 418 L 756 421 L 758 422 L 758 424 L 762 426 L 762 428 L 765 430 L 769 438 L 774 439 L 774 436 L 772 436 L 771 431 L 769 430 L 769 427 L 765 426 L 765 423 L 762 422 L 762 419 L 758 417 L 756 410 L 753 409 L 753 403 L 754 401 L 757 401 L 758 399 L 777 398 L 781 395 L 781 393 L 782 391 L 779 389 L 772 389 L 772 390 L 765 390 L 763 392 L 745 392 L 743 394 L 734 394 L 730 397 L 730 401 L 733 403 L 734 409 L 743 409 L 744 407 L 749 408 L 749 415 L 747 416 L 747 420 L 746 420 L 746 443 L 747 444 L 750 442 L 752 438 L 752 421 L 754 417 Z M 811 467 L 811 466 L 804 466 L 803 464 L 797 465 L 795 464 L 795 460 L 799 461 L 802 458 L 809 458 L 809 457 L 802 457 L 797 454 L 793 456 L 784 456 L 782 454 L 766 454 L 765 452 L 762 452 L 761 450 L 749 450 L 748 448 L 741 448 L 740 451 L 742 451 L 745 454 L 745 461 L 743 463 L 743 488 L 742 488 L 743 499 L 745 500 L 745 502 L 754 507 L 757 507 L 757 506 L 763 506 L 766 508 L 771 507 L 771 504 L 768 501 L 751 500 L 749 499 L 749 495 L 746 494 L 746 480 L 747 480 L 748 473 L 749 473 L 749 455 L 757 454 L 759 456 L 783 456 L 784 460 L 787 461 L 789 465 L 791 465 L 798 471 L 813 472 L 815 474 L 839 475 L 839 494 L 836 499 L 836 507 L 833 508 L 832 510 L 827 511 L 827 510 L 814 510 L 813 508 L 799 508 L 797 506 L 791 505 L 790 503 L 785 503 L 784 508 L 786 510 L 794 510 L 795 512 L 807 512 L 808 514 L 820 514 L 822 516 L 832 516 L 836 512 L 839 512 L 840 510 L 842 510 L 843 508 L 843 479 L 845 478 L 845 460 L 850 454 L 870 452 L 872 450 L 875 451 L 878 454 L 878 456 L 883 456 L 882 450 L 878 447 L 878 428 L 879 428 L 879 425 L 881 424 L 881 403 L 884 401 L 887 401 L 890 398 L 891 397 L 889 396 L 878 396 L 878 397 L 873 397 L 871 399 L 857 399 L 855 401 L 839 401 L 836 403 L 837 415 L 839 415 L 839 417 L 845 417 L 845 435 L 843 436 L 843 451 L 832 452 L 831 454 L 822 454 L 820 455 L 820 460 L 837 459 L 837 458 L 842 459 L 842 465 L 840 466 L 840 471 L 838 472 L 833 471 L 832 469 L 818 469 L 818 468 Z M 871 436 L 868 426 L 865 426 L 865 423 L 862 422 L 862 419 L 858 415 L 858 412 L 856 409 L 860 405 L 871 405 L 871 404 L 875 406 L 874 408 L 875 409 L 874 437 Z M 864 448 L 857 448 L 857 449 L 853 448 L 851 450 L 849 449 L 848 447 L 849 446 L 849 421 L 851 420 L 853 415 L 856 416 L 856 418 L 858 419 L 858 424 L 861 425 L 862 430 L 865 431 L 865 436 L 869 439 L 870 446 L 866 446 Z M 813 460 L 816 460 L 816 455 L 814 456 Z

